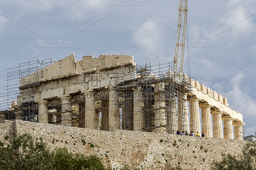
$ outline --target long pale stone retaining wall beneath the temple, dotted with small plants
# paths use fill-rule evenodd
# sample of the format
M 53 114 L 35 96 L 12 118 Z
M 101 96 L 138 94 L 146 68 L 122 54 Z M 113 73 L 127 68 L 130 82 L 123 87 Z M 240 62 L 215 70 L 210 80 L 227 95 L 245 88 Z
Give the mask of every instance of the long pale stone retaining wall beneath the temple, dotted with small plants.
M 241 154 L 246 143 L 235 139 L 128 130 L 109 132 L 19 120 L 0 123 L 1 141 L 4 141 L 6 134 L 12 137 L 14 132 L 28 132 L 36 138 L 42 137 L 51 150 L 67 147 L 70 152 L 95 154 L 102 158 L 106 167 L 117 169 L 126 164 L 148 170 L 170 169 L 178 162 L 182 169 L 210 169 L 212 161 L 219 160 L 222 153 Z

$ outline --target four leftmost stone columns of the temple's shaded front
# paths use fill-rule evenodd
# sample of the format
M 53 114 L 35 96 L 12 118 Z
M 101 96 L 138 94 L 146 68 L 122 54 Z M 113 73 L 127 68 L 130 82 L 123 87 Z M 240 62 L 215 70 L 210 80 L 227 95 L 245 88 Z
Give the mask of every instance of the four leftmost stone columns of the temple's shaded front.
M 120 129 L 116 124 L 120 124 L 120 120 L 116 119 L 116 114 L 119 113 L 119 108 L 117 108 L 117 92 L 113 87 L 108 89 L 109 99 L 108 102 L 103 102 L 102 105 L 102 124 L 104 130 L 109 129 Z M 79 108 L 79 113 L 83 115 L 79 119 L 79 127 L 96 129 L 96 116 L 99 116 L 99 113 L 96 115 L 95 111 L 95 99 L 94 92 L 84 92 L 84 107 Z M 66 126 L 72 126 L 72 113 L 69 112 L 72 110 L 71 106 L 72 96 L 66 95 L 60 97 L 61 100 L 61 124 Z M 38 105 L 38 121 L 41 123 L 48 123 L 48 100 L 37 101 Z M 82 109 L 84 108 L 84 110 Z

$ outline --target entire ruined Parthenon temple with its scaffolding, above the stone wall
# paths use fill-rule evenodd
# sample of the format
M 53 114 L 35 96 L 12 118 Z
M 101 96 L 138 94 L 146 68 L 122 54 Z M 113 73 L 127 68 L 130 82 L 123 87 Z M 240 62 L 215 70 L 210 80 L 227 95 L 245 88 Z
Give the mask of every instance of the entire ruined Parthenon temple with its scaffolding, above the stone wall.
M 181 129 L 243 140 L 243 116 L 228 106 L 227 98 L 176 73 L 170 63 L 152 65 L 146 59 L 138 65 L 131 55 L 76 61 L 72 54 L 57 62 L 22 63 L 8 70 L 7 81 L 0 122 L 169 134 Z

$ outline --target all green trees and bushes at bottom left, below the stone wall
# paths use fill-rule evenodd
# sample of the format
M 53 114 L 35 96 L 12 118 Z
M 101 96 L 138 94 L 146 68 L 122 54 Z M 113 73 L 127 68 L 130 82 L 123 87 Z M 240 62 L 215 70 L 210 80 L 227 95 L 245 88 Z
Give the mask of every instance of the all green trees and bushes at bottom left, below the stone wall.
M 66 148 L 50 152 L 40 137 L 35 141 L 30 134 L 12 139 L 11 145 L 0 147 L 0 170 L 105 170 L 95 155 L 73 154 Z

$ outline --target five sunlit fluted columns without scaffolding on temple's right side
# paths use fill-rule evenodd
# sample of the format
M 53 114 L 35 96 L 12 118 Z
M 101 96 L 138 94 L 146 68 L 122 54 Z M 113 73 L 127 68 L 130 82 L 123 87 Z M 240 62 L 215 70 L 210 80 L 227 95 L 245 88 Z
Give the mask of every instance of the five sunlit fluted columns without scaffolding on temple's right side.
M 234 119 L 228 115 L 222 116 L 222 111 L 220 110 L 211 110 L 212 106 L 209 105 L 207 102 L 199 105 L 198 98 L 192 98 L 191 100 L 189 100 L 189 103 L 190 130 L 194 132 L 201 132 L 199 115 L 200 107 L 202 118 L 202 131 L 204 132 L 205 137 L 234 139 L 235 134 L 235 139 L 243 140 L 243 123 L 241 121 L 235 122 Z M 222 120 L 224 122 L 224 130 L 222 127 Z M 235 133 L 233 133 L 233 127 L 235 129 Z

